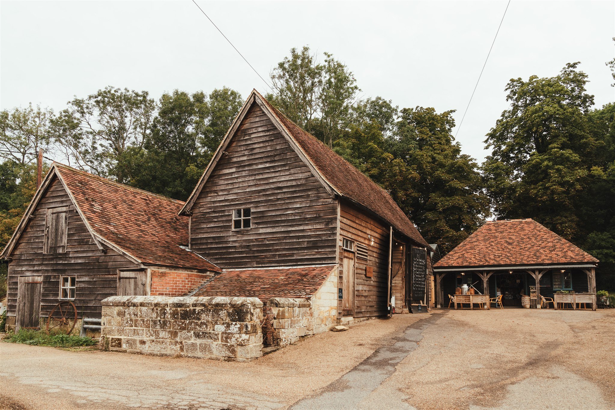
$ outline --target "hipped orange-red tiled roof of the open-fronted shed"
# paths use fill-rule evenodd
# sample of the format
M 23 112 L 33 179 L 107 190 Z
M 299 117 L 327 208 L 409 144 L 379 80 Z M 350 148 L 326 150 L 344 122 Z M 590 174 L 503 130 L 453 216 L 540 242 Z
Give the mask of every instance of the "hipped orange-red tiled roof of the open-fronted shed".
M 533 219 L 490 221 L 434 267 L 596 263 L 598 259 Z

